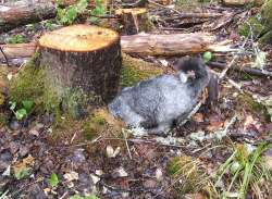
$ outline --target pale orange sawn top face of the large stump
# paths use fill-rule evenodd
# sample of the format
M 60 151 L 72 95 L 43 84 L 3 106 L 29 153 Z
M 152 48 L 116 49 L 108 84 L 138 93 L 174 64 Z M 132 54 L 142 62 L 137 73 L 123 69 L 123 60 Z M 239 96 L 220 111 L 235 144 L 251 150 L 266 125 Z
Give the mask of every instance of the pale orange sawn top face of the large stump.
M 111 46 L 119 40 L 114 30 L 99 26 L 74 25 L 45 34 L 39 46 L 60 51 L 89 52 Z

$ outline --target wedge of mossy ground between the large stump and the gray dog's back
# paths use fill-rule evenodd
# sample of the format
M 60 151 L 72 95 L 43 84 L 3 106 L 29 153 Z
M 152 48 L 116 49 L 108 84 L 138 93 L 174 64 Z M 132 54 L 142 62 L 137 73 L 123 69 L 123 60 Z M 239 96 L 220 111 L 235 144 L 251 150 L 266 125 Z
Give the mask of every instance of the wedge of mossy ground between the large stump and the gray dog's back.
M 160 74 L 162 74 L 162 70 L 154 64 L 123 54 L 120 86 L 132 86 Z

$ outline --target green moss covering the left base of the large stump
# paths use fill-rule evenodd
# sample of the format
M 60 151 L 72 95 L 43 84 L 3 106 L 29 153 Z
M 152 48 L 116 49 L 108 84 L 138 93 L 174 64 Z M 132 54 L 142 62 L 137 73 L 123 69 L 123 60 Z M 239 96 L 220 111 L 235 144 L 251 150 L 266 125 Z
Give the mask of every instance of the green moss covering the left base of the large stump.
M 29 61 L 10 82 L 11 101 L 34 101 L 36 111 L 57 114 L 67 113 L 78 117 L 87 104 L 88 97 L 81 89 L 63 88 L 51 80 L 50 74 L 42 66 Z

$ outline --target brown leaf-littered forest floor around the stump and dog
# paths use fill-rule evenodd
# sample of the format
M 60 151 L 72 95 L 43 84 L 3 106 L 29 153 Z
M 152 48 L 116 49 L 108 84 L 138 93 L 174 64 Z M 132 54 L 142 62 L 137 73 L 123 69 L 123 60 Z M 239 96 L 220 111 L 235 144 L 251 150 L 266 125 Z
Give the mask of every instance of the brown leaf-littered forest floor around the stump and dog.
M 182 5 L 175 10 L 172 7 L 149 8 L 149 14 L 157 18 L 152 33 L 209 32 L 221 40 L 230 39 L 243 50 L 236 60 L 239 67 L 255 61 L 258 55 L 254 49 L 256 42 L 254 38 L 239 36 L 238 26 L 248 15 L 259 12 L 259 8 L 197 3 L 185 10 L 223 15 L 215 18 L 168 20 L 177 14 L 176 10 L 182 12 L 184 9 Z M 51 23 L 54 24 L 54 21 Z M 3 33 L 0 43 L 7 43 L 9 39 L 22 42 L 36 40 L 48 30 L 45 24 L 26 25 Z M 267 53 L 264 70 L 272 72 L 272 47 L 259 45 L 258 50 Z M 227 64 L 232 62 L 234 52 L 214 53 L 212 57 L 213 62 Z M 160 67 L 165 67 L 164 63 L 172 59 L 137 58 L 160 63 Z M 10 62 L 14 67 L 21 63 L 22 60 Z M 7 66 L 2 63 L 0 67 Z M 221 73 L 222 70 L 214 71 Z M 66 126 L 58 135 L 48 114 L 33 113 L 27 116 L 25 125 L 18 126 L 11 121 L 13 113 L 9 105 L 0 107 L 0 116 L 4 114 L 9 117 L 9 122 L 0 126 L 0 199 L 64 199 L 90 194 L 111 199 L 202 199 L 223 198 L 223 195 L 225 198 L 237 198 L 242 185 L 245 185 L 243 176 L 248 171 L 242 169 L 240 173 L 237 172 L 238 177 L 234 178 L 230 171 L 231 163 L 251 165 L 249 157 L 256 154 L 252 151 L 263 144 L 265 151 L 261 151 L 262 159 L 252 165 L 258 167 L 264 163 L 271 174 L 272 148 L 267 144 L 271 144 L 272 133 L 272 115 L 268 111 L 272 109 L 272 103 L 268 104 L 272 97 L 272 80 L 265 75 L 255 76 L 231 67 L 220 82 L 219 90 L 217 102 L 202 105 L 191 120 L 173 128 L 168 137 L 137 137 L 124 130 L 119 136 L 104 133 L 92 140 L 84 140 L 82 129 L 76 126 Z M 230 159 L 232 156 L 235 158 Z M 228 164 L 227 159 L 231 160 Z M 221 165 L 225 165 L 225 173 Z M 250 178 L 246 198 L 272 198 L 271 182 L 265 178 L 264 170 L 258 171 L 260 173 L 251 175 L 256 181 L 251 183 Z M 234 183 L 230 188 L 232 179 Z

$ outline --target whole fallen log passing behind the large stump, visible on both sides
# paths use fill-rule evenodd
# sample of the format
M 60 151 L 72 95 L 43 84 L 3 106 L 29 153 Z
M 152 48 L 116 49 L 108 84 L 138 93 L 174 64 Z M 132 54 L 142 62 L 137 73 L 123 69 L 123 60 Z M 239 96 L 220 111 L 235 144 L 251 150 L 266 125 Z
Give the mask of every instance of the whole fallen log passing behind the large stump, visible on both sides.
M 184 55 L 205 51 L 231 51 L 230 46 L 217 43 L 214 36 L 206 33 L 171 35 L 133 35 L 121 37 L 122 51 L 148 55 Z M 35 43 L 0 45 L 8 59 L 32 57 Z M 0 53 L 0 60 L 4 60 Z

